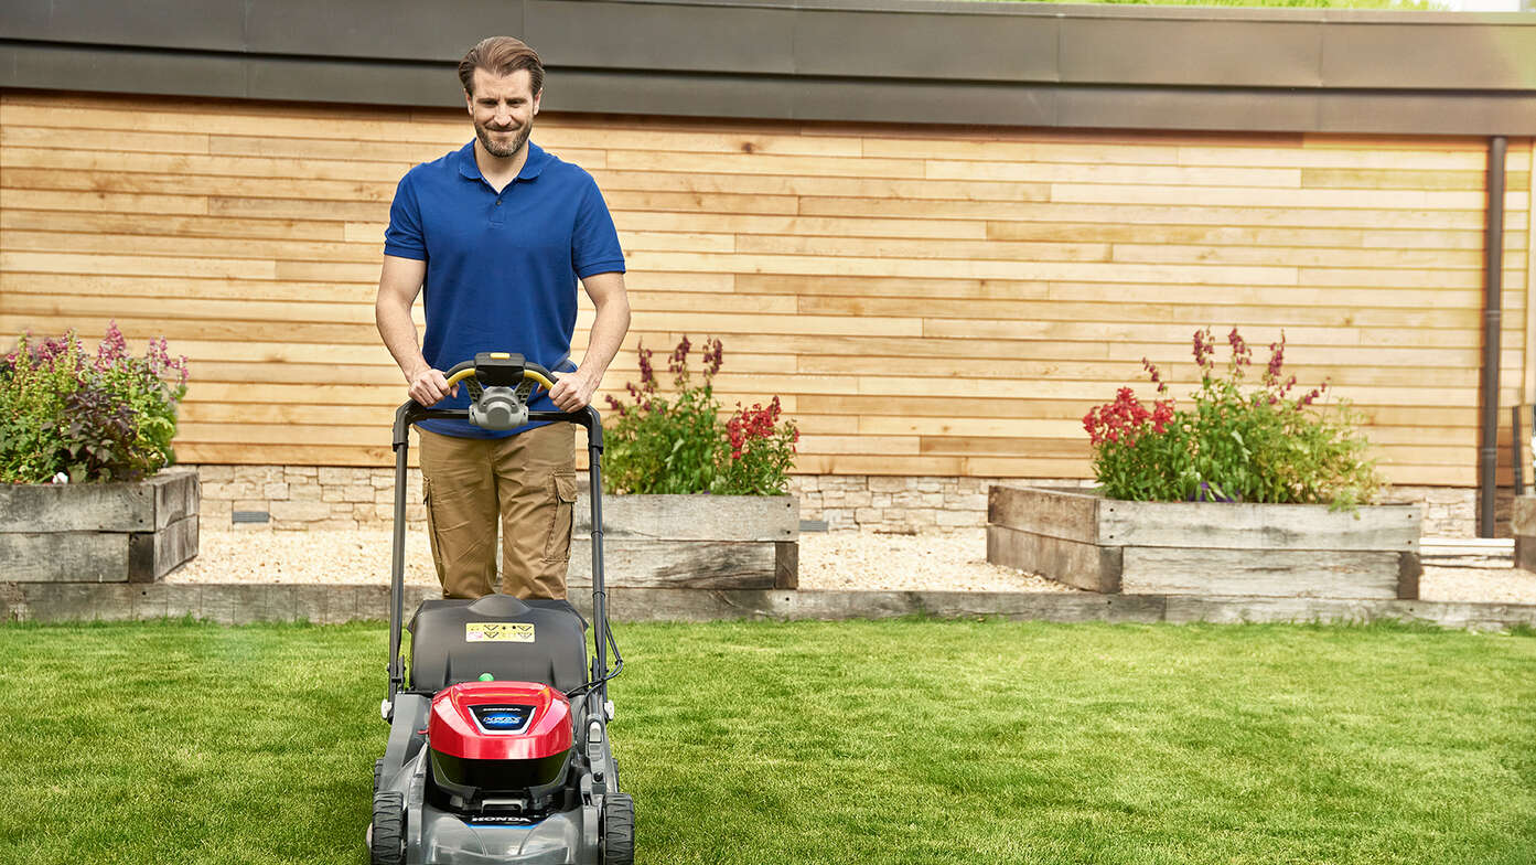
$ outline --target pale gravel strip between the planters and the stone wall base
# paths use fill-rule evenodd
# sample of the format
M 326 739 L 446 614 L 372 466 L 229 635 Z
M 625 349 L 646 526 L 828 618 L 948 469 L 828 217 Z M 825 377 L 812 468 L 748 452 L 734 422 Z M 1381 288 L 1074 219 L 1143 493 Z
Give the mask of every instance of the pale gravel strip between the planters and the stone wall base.
M 387 582 L 390 533 L 204 532 L 192 562 L 166 582 Z M 406 581 L 436 585 L 432 553 L 418 532 L 406 542 Z M 1060 582 L 988 564 L 986 533 L 831 532 L 800 535 L 800 588 L 1075 592 Z M 1425 567 L 1425 601 L 1536 604 L 1536 573 L 1502 567 Z

